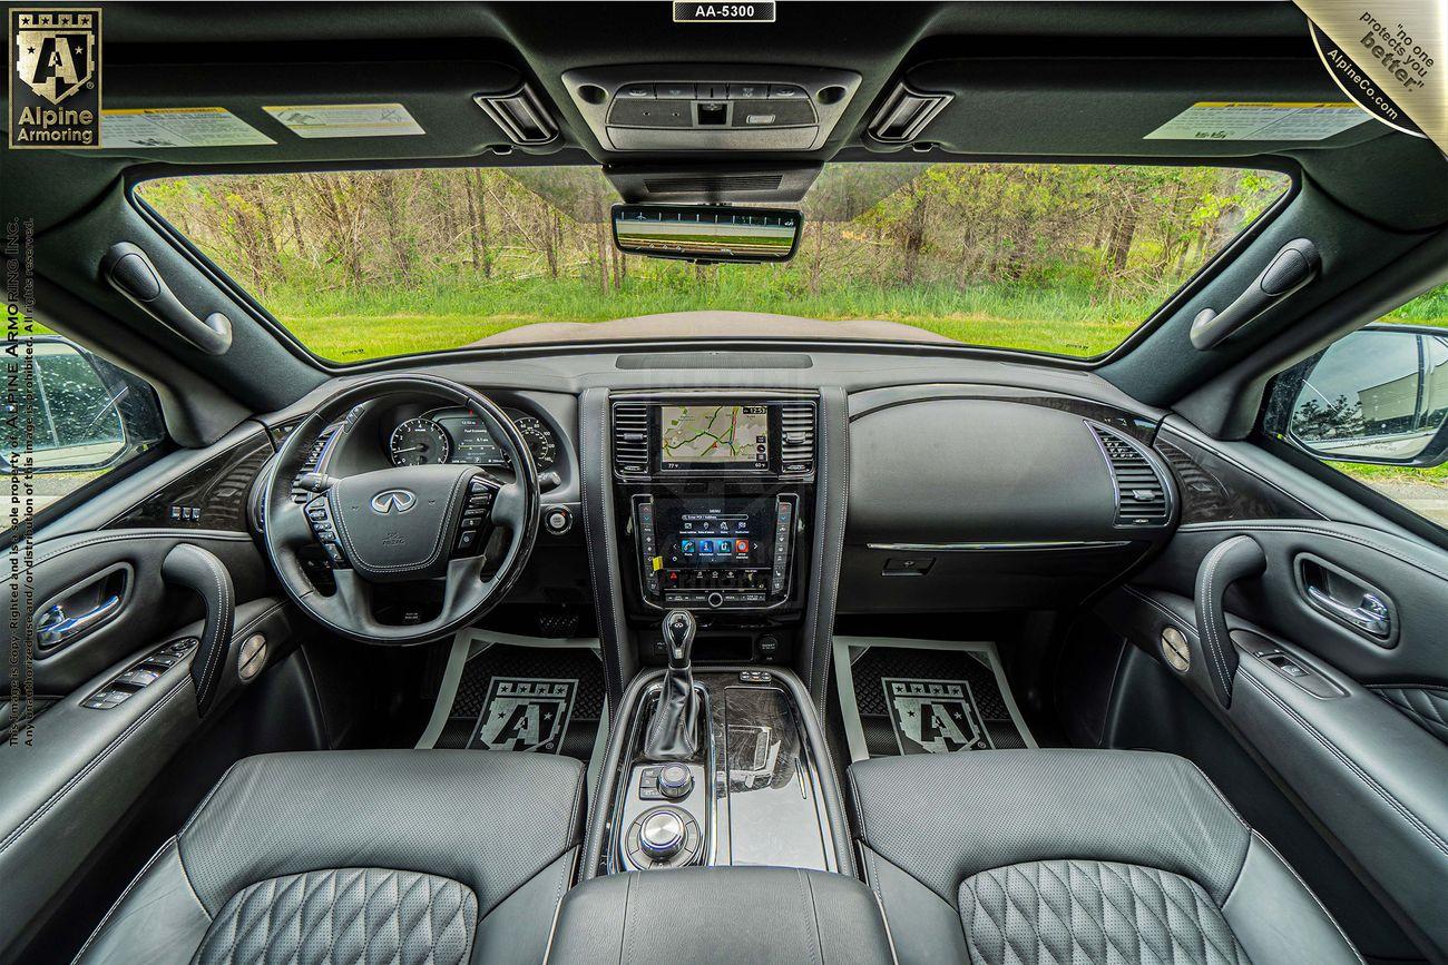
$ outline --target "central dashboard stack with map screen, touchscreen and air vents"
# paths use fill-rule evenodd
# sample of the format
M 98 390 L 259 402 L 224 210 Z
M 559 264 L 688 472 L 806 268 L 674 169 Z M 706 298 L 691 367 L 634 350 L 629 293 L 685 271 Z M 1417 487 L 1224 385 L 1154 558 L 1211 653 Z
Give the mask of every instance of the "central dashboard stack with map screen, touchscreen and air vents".
M 614 395 L 626 603 L 644 663 L 669 609 L 701 619 L 701 661 L 782 663 L 808 593 L 820 399 L 785 391 Z

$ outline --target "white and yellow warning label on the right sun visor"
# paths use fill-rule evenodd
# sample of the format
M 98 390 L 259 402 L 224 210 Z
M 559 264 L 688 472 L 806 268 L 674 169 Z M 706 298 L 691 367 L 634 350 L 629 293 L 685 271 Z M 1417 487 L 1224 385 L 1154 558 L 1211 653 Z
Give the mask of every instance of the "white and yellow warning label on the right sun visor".
M 1199 101 L 1142 140 L 1322 140 L 1368 120 L 1348 101 Z

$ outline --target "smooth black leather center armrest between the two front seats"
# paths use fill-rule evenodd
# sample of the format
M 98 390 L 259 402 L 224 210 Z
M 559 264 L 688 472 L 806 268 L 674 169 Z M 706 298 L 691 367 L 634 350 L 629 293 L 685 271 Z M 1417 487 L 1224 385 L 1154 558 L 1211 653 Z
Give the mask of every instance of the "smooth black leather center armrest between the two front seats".
M 563 898 L 550 962 L 895 961 L 875 894 L 799 868 L 613 874 Z

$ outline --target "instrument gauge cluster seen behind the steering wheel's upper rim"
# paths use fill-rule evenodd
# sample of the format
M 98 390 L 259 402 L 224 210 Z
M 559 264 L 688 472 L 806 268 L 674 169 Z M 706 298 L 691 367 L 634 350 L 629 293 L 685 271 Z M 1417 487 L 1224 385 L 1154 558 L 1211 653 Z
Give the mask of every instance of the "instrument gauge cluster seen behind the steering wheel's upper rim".
M 533 463 L 549 469 L 557 460 L 557 438 L 543 420 L 507 409 L 508 418 L 533 454 Z M 394 466 L 462 463 L 491 469 L 511 466 L 508 454 L 492 437 L 487 420 L 466 409 L 433 409 L 400 422 L 388 437 Z

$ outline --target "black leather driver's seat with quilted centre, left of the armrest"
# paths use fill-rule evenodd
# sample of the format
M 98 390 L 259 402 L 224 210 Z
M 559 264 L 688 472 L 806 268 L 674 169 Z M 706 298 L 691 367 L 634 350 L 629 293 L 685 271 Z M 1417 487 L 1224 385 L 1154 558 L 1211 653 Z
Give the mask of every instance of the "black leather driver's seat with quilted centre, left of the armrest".
M 239 761 L 77 961 L 542 962 L 584 768 L 494 751 Z

